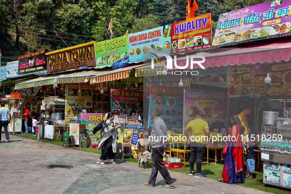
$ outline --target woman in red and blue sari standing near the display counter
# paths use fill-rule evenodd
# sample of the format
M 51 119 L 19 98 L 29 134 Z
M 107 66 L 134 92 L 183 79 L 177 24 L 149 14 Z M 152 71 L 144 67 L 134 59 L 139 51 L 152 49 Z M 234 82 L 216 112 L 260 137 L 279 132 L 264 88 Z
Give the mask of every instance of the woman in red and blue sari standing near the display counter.
M 242 136 L 244 128 L 237 115 L 230 118 L 232 127 L 228 132 L 227 154 L 225 156 L 222 178 L 218 181 L 233 184 L 245 183 L 242 165 Z

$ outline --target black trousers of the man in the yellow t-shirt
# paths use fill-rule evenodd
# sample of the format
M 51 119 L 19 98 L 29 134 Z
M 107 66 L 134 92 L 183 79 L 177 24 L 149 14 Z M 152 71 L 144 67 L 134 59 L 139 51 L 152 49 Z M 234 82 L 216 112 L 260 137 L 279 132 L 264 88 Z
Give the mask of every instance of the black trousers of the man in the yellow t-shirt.
M 195 147 L 192 147 L 195 146 Z M 191 156 L 190 156 L 190 171 L 194 171 L 194 161 L 196 161 L 196 173 L 201 173 L 201 165 L 203 161 L 203 155 L 205 152 L 205 146 L 202 143 L 191 143 Z

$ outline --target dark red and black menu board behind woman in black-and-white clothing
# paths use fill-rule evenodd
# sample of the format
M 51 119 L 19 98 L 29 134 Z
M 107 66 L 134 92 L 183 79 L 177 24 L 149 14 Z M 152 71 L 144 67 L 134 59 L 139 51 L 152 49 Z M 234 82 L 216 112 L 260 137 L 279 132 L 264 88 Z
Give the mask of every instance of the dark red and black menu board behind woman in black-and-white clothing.
M 115 115 L 138 113 L 143 119 L 143 92 L 111 89 L 111 110 Z

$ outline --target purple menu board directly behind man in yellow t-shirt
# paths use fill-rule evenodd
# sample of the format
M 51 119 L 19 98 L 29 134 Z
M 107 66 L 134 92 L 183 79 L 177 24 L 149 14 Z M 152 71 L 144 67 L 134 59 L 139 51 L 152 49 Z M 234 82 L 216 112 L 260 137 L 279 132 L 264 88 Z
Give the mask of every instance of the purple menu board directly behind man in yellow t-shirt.
M 184 90 L 184 129 L 188 123 L 196 119 L 197 111 L 204 113 L 203 120 L 227 122 L 226 92 L 213 90 Z

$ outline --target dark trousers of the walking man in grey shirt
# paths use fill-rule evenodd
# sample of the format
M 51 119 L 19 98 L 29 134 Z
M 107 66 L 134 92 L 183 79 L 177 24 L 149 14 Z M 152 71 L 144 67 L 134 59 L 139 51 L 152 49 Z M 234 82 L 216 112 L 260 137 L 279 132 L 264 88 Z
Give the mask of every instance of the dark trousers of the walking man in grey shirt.
M 150 176 L 149 184 L 155 186 L 156 179 L 158 176 L 158 170 L 160 171 L 162 178 L 166 181 L 167 185 L 174 183 L 174 180 L 171 178 L 171 175 L 168 172 L 167 167 L 162 161 L 163 147 L 152 148 L 152 174 Z

